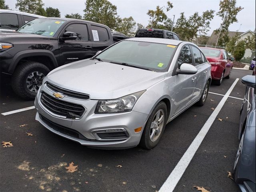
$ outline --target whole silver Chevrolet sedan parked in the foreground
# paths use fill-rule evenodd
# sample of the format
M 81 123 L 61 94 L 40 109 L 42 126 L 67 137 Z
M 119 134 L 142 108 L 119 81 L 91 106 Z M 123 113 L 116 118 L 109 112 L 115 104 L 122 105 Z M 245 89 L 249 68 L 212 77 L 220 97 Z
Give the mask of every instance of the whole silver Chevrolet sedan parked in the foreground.
M 195 44 L 130 38 L 56 68 L 35 100 L 48 130 L 97 148 L 153 148 L 168 122 L 204 105 L 211 65 Z

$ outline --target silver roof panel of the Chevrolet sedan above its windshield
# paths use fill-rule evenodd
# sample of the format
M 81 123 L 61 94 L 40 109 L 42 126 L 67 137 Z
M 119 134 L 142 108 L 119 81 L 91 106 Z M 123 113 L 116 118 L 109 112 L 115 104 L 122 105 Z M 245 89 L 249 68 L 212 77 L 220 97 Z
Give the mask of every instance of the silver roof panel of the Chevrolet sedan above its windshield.
M 164 39 L 164 38 L 151 38 L 151 37 L 135 37 L 129 38 L 125 41 L 140 41 L 140 42 L 151 42 L 151 43 L 162 43 L 162 44 L 170 44 L 170 45 L 179 45 L 184 41 L 174 40 L 174 39 Z M 187 42 L 189 44 L 193 44 L 191 42 Z

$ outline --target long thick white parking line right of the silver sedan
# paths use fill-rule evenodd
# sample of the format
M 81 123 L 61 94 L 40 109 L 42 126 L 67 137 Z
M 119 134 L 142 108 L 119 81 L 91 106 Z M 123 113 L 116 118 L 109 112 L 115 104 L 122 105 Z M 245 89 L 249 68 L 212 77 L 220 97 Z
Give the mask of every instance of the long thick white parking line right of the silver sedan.
M 206 136 L 208 130 L 212 126 L 212 123 L 214 120 L 216 120 L 216 117 L 222 107 L 224 106 L 226 100 L 228 99 L 228 96 L 236 86 L 236 83 L 238 82 L 239 78 L 237 78 L 232 86 L 229 88 L 229 90 L 226 92 L 218 106 L 215 108 L 215 110 L 212 112 L 200 132 L 197 134 L 196 138 L 193 140 L 193 142 L 190 144 L 178 164 L 175 166 L 174 170 L 172 170 L 170 176 L 167 178 L 167 180 L 164 182 L 162 187 L 158 192 L 172 192 L 176 185 L 178 184 L 180 178 L 182 177 L 183 173 L 185 172 L 186 168 L 188 167 L 190 161 L 192 160 L 194 154 L 196 153 L 197 149 L 199 148 L 200 144 L 204 140 L 204 137 Z

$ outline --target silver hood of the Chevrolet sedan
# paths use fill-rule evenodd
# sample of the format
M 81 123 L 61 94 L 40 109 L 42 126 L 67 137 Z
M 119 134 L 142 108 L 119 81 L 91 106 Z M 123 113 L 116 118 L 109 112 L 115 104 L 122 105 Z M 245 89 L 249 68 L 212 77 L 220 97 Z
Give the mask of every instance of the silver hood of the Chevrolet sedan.
M 146 90 L 164 77 L 165 73 L 87 59 L 56 68 L 44 82 L 100 100 Z

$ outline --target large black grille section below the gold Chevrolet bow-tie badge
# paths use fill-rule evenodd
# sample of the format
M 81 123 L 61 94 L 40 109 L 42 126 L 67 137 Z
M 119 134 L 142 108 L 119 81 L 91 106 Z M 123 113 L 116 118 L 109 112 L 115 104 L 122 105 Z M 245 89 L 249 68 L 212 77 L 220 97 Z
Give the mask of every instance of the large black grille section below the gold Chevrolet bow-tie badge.
M 85 111 L 85 108 L 81 105 L 62 101 L 45 92 L 42 92 L 40 100 L 48 110 L 54 114 L 65 116 L 66 118 L 80 118 Z

